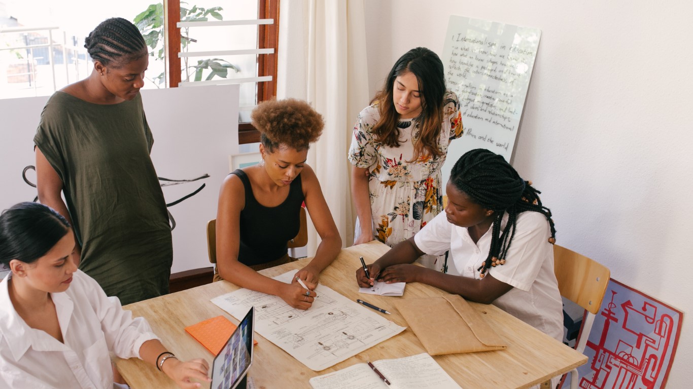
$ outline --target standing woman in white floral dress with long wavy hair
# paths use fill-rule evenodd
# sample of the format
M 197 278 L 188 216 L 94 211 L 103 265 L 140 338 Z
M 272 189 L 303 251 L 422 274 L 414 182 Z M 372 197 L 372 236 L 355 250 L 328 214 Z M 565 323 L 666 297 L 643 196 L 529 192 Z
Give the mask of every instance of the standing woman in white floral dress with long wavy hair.
M 394 246 L 443 210 L 440 168 L 451 140 L 462 136 L 457 96 L 446 91 L 443 64 L 417 47 L 392 66 L 363 109 L 349 149 L 351 194 L 358 220 L 354 244 Z M 421 264 L 443 270 L 434 256 Z

